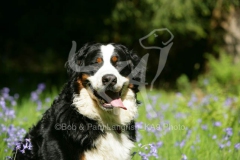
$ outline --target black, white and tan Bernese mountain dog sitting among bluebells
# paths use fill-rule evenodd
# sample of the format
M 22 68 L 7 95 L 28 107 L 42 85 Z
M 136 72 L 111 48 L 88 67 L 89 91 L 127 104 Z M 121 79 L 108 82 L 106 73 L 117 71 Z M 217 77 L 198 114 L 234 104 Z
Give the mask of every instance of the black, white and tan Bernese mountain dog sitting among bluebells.
M 63 90 L 12 158 L 131 159 L 139 79 L 132 71 L 138 63 L 123 45 L 85 44 L 66 63 L 69 80 Z

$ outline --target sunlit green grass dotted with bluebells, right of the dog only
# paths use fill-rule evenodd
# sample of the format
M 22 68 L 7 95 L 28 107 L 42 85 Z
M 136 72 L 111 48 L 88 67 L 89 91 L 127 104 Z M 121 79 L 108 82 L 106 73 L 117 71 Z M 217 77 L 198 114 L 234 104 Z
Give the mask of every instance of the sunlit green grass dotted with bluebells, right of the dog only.
M 155 91 L 149 95 L 149 99 L 158 97 L 153 103 L 155 111 L 151 107 L 146 109 L 146 105 L 139 107 L 137 121 L 145 124 L 139 130 L 142 137 L 139 143 L 144 146 L 159 142 L 162 144 L 157 147 L 158 157 L 149 156 L 154 155 L 149 154 L 153 152 L 150 147 L 136 147 L 136 152 L 146 153 L 142 158 L 176 160 L 184 159 L 186 155 L 191 160 L 232 160 L 240 156 L 235 148 L 240 142 L 237 105 L 225 106 L 226 99 L 220 95 L 206 100 L 209 95 L 204 94 L 195 99 L 195 92 L 188 95 Z M 193 99 L 193 104 L 189 103 Z M 156 112 L 157 117 L 146 116 L 150 112 Z M 160 128 L 157 129 L 158 126 Z M 136 156 L 136 159 L 141 158 Z

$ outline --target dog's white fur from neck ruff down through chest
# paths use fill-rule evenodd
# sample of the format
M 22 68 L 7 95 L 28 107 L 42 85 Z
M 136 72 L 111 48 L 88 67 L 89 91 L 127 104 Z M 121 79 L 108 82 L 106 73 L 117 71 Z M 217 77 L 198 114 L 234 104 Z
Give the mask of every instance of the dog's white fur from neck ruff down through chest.
M 75 95 L 73 104 L 78 112 L 96 120 L 100 126 L 111 128 L 114 125 L 120 125 L 126 127 L 137 113 L 136 99 L 134 93 L 128 89 L 122 100 L 127 110 L 118 108 L 118 114 L 108 113 L 97 106 L 86 89 L 82 89 L 79 95 Z M 84 160 L 129 160 L 131 159 L 131 149 L 134 147 L 134 143 L 129 140 L 126 131 L 117 133 L 109 129 L 106 130 L 104 136 L 95 140 L 94 145 L 96 148 L 84 153 Z

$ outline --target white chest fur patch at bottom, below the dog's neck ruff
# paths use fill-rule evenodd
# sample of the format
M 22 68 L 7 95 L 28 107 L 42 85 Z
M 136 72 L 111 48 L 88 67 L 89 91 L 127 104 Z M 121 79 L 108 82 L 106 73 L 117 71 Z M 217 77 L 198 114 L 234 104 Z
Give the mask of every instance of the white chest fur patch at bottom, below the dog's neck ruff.
M 84 153 L 86 160 L 129 160 L 131 148 L 134 146 L 125 133 L 107 131 L 95 142 L 96 149 Z

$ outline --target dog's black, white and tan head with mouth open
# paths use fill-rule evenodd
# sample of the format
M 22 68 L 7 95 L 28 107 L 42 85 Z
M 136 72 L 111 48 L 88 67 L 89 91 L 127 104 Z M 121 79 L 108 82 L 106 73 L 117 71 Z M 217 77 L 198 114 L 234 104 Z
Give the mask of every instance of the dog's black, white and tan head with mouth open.
M 132 74 L 138 62 L 138 56 L 123 45 L 94 43 L 84 45 L 70 57 L 67 69 L 77 94 L 85 88 L 103 110 L 126 110 L 122 98 L 128 88 L 138 92 L 138 86 L 131 83 L 139 79 Z

